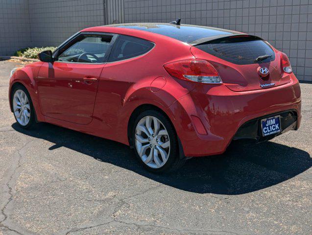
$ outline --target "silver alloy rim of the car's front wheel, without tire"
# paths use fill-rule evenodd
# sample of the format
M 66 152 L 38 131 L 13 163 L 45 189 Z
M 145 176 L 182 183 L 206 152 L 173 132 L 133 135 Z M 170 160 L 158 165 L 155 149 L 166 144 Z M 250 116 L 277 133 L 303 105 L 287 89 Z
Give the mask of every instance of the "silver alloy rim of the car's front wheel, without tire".
M 17 90 L 13 95 L 13 111 L 15 118 L 26 126 L 30 120 L 30 103 L 27 95 L 22 90 Z

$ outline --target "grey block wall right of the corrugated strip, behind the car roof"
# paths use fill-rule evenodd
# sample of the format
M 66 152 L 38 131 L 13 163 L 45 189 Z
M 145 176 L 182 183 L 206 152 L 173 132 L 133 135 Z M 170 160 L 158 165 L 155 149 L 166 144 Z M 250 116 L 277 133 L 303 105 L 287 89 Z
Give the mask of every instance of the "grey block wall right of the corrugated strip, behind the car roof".
M 312 0 L 124 0 L 124 20 L 226 28 L 257 35 L 285 52 L 312 81 Z

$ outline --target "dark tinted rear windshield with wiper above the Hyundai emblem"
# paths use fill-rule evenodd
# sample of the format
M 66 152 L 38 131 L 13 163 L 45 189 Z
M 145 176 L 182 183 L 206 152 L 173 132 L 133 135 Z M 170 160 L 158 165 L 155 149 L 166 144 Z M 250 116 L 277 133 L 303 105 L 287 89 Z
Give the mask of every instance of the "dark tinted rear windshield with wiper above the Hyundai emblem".
M 254 36 L 221 38 L 194 47 L 237 65 L 266 63 L 275 60 L 273 49 L 266 42 Z M 259 56 L 264 55 L 271 57 L 256 61 Z

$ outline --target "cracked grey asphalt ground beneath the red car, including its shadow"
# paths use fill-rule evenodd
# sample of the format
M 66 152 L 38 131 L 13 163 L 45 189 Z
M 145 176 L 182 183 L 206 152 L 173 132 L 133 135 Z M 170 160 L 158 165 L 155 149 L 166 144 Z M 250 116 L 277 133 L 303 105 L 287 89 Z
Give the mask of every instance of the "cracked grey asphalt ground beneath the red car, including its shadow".
M 19 128 L 7 99 L 17 65 L 0 61 L 0 235 L 312 233 L 312 84 L 301 84 L 299 131 L 161 176 L 123 144 Z

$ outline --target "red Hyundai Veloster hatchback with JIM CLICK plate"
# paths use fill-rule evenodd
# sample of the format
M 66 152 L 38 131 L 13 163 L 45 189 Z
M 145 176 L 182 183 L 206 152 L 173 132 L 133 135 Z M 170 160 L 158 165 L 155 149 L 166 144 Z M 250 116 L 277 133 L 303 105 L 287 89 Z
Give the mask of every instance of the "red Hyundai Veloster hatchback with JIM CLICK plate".
M 179 22 L 106 25 L 39 59 L 11 72 L 10 107 L 21 127 L 43 121 L 119 141 L 155 172 L 300 125 L 287 55 L 245 33 Z

